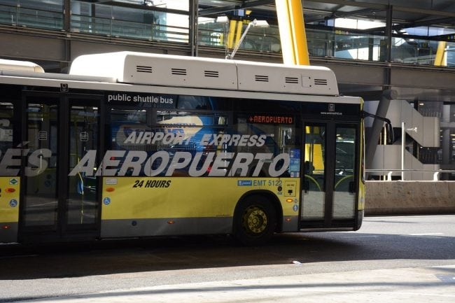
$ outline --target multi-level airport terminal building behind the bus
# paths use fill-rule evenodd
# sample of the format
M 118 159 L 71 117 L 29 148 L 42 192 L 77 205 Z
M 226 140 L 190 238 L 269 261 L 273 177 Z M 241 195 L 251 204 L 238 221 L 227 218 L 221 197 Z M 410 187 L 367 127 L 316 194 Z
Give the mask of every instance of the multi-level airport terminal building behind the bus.
M 387 144 L 367 119 L 368 178 L 455 180 L 454 1 L 305 0 L 302 10 L 310 64 L 393 124 Z M 236 59 L 281 63 L 279 22 L 274 0 L 0 0 L 0 58 L 67 73 L 80 55 L 224 58 L 239 43 Z

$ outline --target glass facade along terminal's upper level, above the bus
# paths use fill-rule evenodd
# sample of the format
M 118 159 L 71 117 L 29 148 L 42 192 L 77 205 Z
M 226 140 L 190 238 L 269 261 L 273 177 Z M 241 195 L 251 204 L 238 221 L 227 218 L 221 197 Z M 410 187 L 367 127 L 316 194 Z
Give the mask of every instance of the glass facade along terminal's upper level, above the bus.
M 65 8 L 65 3 L 69 8 Z M 204 1 L 200 1 L 204 2 Z M 217 1 L 223 2 L 223 1 Z M 230 1 L 226 2 L 228 5 Z M 190 0 L 1 0 L 0 24 L 36 27 L 74 33 L 141 39 L 146 41 L 190 41 Z M 200 10 L 204 7 L 200 7 Z M 64 13 L 71 12 L 69 24 Z M 276 16 L 255 15 L 255 10 L 233 10 L 199 17 L 197 41 L 214 48 L 233 48 L 248 22 L 256 17 L 269 17 L 268 28 L 252 28 L 240 45 L 241 50 L 280 53 L 281 44 Z M 218 16 L 219 17 L 219 16 Z M 310 18 L 311 21 L 311 18 Z M 436 22 L 436 21 L 435 21 Z M 391 31 L 391 62 L 405 64 L 455 66 L 455 27 L 447 24 L 409 25 Z M 393 24 L 395 25 L 395 24 Z M 335 57 L 367 61 L 388 61 L 388 35 L 384 20 L 359 18 L 325 18 L 323 22 L 307 22 L 307 44 L 314 57 Z M 381 29 L 382 28 L 382 29 Z M 395 28 L 395 27 L 394 27 Z M 370 30 L 381 29 L 381 30 Z M 438 57 L 438 52 L 442 55 Z M 441 59 L 440 59 L 441 58 Z

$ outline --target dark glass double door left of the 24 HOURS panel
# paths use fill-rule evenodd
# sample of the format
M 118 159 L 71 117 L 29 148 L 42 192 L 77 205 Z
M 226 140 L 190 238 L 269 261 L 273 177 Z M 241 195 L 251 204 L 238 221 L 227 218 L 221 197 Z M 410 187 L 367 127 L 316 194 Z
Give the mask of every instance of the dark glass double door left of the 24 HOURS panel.
M 99 180 L 71 171 L 101 148 L 100 99 L 49 95 L 25 97 L 20 240 L 92 239 L 99 233 Z

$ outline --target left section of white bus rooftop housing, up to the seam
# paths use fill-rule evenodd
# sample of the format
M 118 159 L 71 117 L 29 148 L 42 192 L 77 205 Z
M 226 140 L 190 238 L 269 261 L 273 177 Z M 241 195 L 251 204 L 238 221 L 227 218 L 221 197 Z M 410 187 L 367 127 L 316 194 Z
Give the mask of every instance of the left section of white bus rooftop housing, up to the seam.
M 234 62 L 217 59 L 110 52 L 82 55 L 73 60 L 70 74 L 117 78 L 120 83 L 237 90 Z

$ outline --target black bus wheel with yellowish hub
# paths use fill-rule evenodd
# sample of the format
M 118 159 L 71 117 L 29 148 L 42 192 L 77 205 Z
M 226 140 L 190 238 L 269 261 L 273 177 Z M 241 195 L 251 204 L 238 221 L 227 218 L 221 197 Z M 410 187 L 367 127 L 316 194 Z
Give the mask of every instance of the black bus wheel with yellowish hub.
M 276 211 L 266 197 L 246 197 L 235 214 L 235 236 L 244 245 L 265 244 L 274 234 Z

